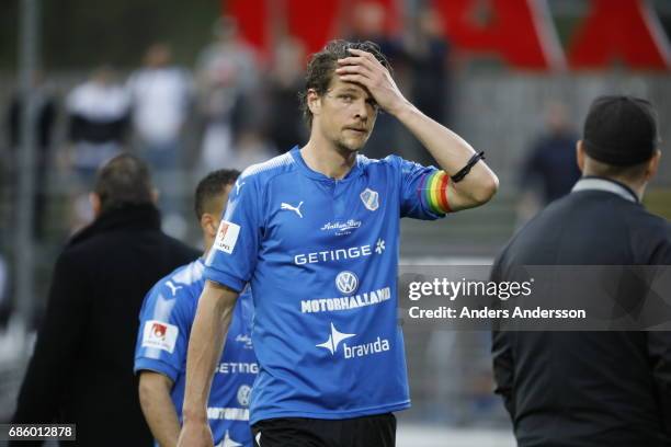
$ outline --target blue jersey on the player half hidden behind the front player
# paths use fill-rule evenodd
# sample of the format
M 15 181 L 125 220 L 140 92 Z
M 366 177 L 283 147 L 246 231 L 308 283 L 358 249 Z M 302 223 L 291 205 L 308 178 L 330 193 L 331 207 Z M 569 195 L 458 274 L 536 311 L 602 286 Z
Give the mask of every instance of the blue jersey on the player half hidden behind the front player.
M 152 370 L 172 379 L 171 398 L 180 422 L 189 335 L 205 286 L 204 270 L 202 260 L 175 270 L 147 294 L 140 311 L 135 373 Z M 252 316 L 251 296 L 243 293 L 234 310 L 207 403 L 207 417 L 216 446 L 253 445 L 249 399 L 259 366 L 251 341 Z

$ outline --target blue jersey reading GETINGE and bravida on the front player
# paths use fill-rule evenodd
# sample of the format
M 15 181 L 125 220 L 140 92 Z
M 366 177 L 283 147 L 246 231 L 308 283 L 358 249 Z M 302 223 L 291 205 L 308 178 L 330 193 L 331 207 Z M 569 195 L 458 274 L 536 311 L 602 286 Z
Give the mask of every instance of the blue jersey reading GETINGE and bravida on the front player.
M 399 219 L 442 217 L 422 193 L 435 172 L 357 156 L 332 180 L 296 147 L 238 179 L 204 275 L 236 290 L 251 284 L 260 366 L 252 424 L 410 406 L 397 318 Z

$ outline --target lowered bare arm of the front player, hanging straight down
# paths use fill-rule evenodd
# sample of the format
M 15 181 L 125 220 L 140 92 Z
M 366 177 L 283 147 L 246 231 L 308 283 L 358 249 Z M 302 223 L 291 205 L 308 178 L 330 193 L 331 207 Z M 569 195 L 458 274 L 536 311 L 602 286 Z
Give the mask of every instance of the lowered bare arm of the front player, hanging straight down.
M 213 445 L 212 432 L 207 424 L 207 398 L 216 363 L 224 351 L 224 342 L 237 299 L 237 291 L 211 280 L 205 283 L 189 341 L 184 425 L 178 446 Z

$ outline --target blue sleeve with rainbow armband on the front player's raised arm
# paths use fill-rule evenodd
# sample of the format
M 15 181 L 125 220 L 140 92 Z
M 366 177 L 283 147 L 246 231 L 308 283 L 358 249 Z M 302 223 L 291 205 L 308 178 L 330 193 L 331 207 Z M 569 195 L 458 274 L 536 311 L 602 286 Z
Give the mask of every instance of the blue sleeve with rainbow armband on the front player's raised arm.
M 400 171 L 401 193 L 400 193 L 400 214 L 401 217 L 413 219 L 435 220 L 445 216 L 446 209 L 440 207 L 440 200 L 432 203 L 432 183 L 437 183 L 437 179 L 445 173 L 434 167 L 423 167 L 413 161 L 405 160 L 397 156 L 389 156 L 387 160 Z M 435 191 L 437 194 L 441 191 Z

